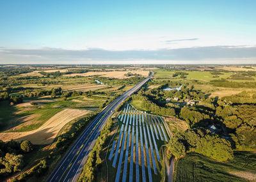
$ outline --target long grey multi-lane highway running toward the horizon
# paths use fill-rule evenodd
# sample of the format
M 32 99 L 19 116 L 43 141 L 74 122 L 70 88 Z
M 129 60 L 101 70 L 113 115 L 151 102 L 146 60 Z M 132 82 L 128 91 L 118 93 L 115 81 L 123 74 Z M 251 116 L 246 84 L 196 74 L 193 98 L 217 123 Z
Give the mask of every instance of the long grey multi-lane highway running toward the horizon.
M 145 82 L 147 82 L 151 77 L 152 72 L 150 72 L 150 75 L 147 78 L 129 89 L 129 91 L 126 91 L 123 95 L 116 98 L 108 105 L 108 107 L 99 113 L 99 115 L 80 135 L 79 139 L 76 140 L 72 148 L 70 148 L 67 154 L 62 158 L 61 162 L 47 179 L 48 182 L 77 181 L 79 174 L 83 171 L 83 165 L 86 163 L 88 154 L 95 145 L 97 137 L 99 136 L 103 126 L 114 114 L 116 108 L 124 102 L 128 96 L 131 96 L 135 91 L 140 89 L 140 87 L 143 86 L 143 84 L 145 84 Z

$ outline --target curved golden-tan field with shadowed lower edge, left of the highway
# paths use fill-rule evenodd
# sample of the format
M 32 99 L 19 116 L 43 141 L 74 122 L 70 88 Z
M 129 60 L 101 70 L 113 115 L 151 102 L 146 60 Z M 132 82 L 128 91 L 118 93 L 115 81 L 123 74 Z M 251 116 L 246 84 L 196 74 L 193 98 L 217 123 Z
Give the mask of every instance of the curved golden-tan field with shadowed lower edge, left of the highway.
M 33 144 L 50 144 L 58 135 L 61 128 L 72 119 L 79 118 L 92 112 L 90 110 L 65 109 L 58 112 L 40 128 L 29 132 L 0 133 L 1 140 L 30 140 Z

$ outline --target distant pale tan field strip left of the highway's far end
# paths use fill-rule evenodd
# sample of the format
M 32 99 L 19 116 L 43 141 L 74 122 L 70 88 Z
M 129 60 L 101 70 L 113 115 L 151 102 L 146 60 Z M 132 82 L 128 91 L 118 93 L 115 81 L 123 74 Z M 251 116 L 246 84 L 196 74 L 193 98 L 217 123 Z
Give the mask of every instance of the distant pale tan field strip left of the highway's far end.
M 74 76 L 84 76 L 84 77 L 89 77 L 89 76 L 94 76 L 94 75 L 100 75 L 101 77 L 111 77 L 111 78 L 116 78 L 116 79 L 125 79 L 128 78 L 127 76 L 125 76 L 126 73 L 136 73 L 136 74 L 140 74 L 143 77 L 147 77 L 148 76 L 148 71 L 118 71 L 118 72 L 87 72 L 87 73 L 73 73 L 73 74 L 69 74 L 69 75 L 65 75 L 68 77 L 74 77 Z

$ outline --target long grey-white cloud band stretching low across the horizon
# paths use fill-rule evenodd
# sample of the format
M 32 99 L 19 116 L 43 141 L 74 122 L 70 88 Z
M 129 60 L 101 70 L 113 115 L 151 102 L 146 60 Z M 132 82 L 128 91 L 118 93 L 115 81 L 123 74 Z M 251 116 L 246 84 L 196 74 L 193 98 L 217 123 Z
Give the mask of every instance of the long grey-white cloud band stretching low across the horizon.
M 2 49 L 4 63 L 256 63 L 256 46 L 214 46 L 156 50 Z M 147 60 L 147 61 L 145 61 Z M 239 62 L 240 61 L 240 62 Z

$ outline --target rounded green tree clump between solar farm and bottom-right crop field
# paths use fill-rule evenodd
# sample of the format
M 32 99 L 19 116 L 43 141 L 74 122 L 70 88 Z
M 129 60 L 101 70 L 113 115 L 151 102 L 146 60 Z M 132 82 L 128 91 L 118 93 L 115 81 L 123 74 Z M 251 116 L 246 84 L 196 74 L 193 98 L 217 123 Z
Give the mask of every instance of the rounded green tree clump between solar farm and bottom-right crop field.
M 200 153 L 220 161 L 234 158 L 233 150 L 228 140 L 198 129 L 177 133 L 170 140 L 168 151 L 176 159 L 190 152 Z

